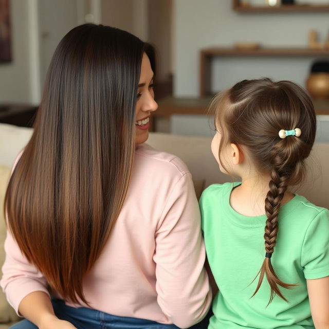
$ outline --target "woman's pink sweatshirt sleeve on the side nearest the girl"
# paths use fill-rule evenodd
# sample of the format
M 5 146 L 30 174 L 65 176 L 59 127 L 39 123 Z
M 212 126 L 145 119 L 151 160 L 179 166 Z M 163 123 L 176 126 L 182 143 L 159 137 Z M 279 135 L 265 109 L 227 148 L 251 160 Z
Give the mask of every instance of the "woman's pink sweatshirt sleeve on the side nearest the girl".
M 211 303 L 200 230 L 200 212 L 190 173 L 169 194 L 156 235 L 158 304 L 172 322 L 186 328 L 201 321 Z

